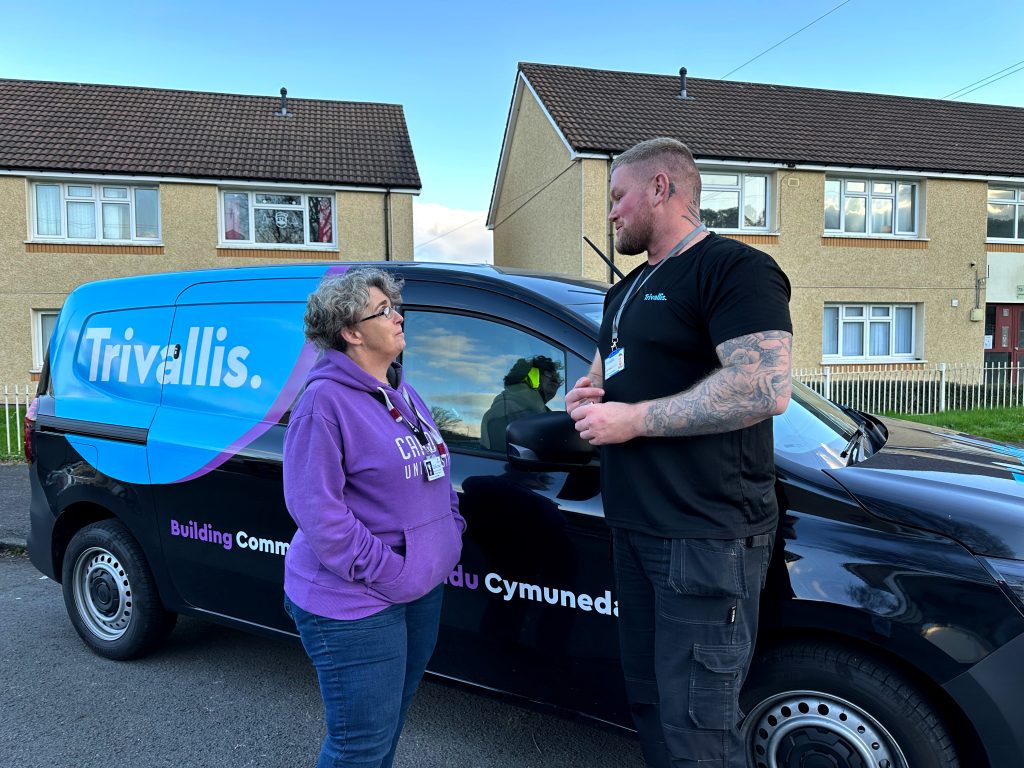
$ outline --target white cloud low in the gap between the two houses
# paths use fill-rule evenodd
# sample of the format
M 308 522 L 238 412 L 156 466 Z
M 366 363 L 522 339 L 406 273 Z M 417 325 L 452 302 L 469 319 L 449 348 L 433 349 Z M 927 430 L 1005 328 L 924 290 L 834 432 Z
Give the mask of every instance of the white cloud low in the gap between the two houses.
M 413 202 L 413 244 L 417 261 L 492 263 L 494 249 L 486 211 L 465 211 L 438 203 Z

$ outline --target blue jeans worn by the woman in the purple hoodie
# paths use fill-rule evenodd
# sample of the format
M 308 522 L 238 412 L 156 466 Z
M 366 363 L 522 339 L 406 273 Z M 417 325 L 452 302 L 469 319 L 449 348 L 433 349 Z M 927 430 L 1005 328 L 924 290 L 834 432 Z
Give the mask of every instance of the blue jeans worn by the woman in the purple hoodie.
M 347 622 L 309 613 L 285 596 L 324 699 L 327 737 L 316 768 L 391 768 L 437 641 L 443 590 Z

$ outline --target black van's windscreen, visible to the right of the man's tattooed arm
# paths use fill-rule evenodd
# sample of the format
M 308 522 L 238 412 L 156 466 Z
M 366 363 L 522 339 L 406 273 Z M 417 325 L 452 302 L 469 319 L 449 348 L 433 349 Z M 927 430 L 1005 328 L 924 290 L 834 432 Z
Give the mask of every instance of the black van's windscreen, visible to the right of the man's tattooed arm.
M 779 456 L 821 469 L 846 466 L 840 454 L 857 429 L 835 402 L 799 381 L 793 382 L 790 406 L 773 426 Z

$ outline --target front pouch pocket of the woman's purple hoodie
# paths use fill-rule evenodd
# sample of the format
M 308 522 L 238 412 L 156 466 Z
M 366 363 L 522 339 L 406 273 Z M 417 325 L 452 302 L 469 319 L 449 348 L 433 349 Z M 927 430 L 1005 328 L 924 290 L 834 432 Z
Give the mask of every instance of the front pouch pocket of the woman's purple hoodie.
M 423 597 L 447 579 L 462 554 L 462 536 L 451 511 L 403 532 L 406 562 L 401 571 L 390 582 L 367 585 L 371 595 L 390 603 Z

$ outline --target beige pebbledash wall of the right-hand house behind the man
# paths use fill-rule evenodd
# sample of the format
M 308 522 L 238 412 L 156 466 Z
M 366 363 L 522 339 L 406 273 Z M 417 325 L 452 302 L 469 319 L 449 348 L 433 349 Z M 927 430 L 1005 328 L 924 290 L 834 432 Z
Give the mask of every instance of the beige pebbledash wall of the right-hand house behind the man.
M 573 161 L 528 89 L 518 114 L 510 120 L 509 131 L 511 144 L 494 226 L 495 264 L 608 282 L 608 267 L 583 236 L 607 255 L 610 161 L 578 158 L 578 168 L 570 168 L 525 202 L 530 190 L 542 187 Z M 735 167 L 743 168 L 742 164 Z M 822 357 L 826 302 L 918 305 L 918 361 L 900 366 L 982 364 L 984 323 L 971 319 L 976 298 L 971 262 L 985 274 L 987 184 L 914 178 L 921 190 L 921 236 L 913 240 L 826 237 L 825 173 L 785 168 L 771 173 L 771 231 L 725 234 L 770 254 L 788 275 L 795 368 L 844 365 Z M 642 257 L 615 252 L 613 259 L 628 272 Z M 983 288 L 978 299 L 984 308 Z M 957 306 L 952 305 L 954 300 Z

